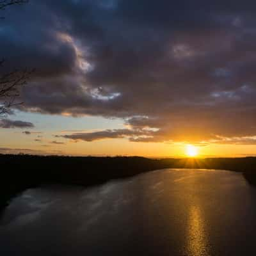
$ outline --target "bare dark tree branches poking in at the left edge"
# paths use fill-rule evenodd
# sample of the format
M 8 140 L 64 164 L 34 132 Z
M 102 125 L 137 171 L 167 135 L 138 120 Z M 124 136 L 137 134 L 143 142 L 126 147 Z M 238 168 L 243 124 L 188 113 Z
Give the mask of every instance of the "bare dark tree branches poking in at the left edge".
M 0 0 L 0 10 L 15 4 L 28 3 L 28 0 Z M 4 65 L 4 60 L 0 61 L 0 68 Z M 20 88 L 24 86 L 31 74 L 31 70 L 13 70 L 6 74 L 0 74 L 0 117 L 8 115 L 10 108 L 22 102 L 15 100 L 20 95 Z

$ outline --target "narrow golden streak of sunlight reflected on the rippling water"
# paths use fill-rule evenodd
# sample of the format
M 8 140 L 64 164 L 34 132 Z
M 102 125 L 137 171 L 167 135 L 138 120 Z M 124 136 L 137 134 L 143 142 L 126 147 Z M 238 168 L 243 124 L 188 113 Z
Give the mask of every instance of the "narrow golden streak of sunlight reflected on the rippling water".
M 209 255 L 207 234 L 205 233 L 204 219 L 202 217 L 199 205 L 190 207 L 187 234 L 189 255 Z

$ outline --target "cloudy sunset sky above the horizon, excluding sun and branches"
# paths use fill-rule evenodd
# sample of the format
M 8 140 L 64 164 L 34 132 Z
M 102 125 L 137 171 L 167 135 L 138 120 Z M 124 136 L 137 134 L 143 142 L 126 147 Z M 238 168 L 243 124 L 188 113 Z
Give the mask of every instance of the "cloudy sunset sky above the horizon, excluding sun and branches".
M 0 153 L 256 155 L 255 1 L 31 0 L 1 12 L 0 74 L 35 71 L 0 120 Z

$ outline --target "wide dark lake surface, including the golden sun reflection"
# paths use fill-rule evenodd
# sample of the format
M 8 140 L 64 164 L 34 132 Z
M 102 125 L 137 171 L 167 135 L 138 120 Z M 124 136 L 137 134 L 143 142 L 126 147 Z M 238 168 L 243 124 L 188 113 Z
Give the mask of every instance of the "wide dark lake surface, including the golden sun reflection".
M 0 255 L 256 255 L 256 190 L 241 173 L 150 172 L 17 196 Z

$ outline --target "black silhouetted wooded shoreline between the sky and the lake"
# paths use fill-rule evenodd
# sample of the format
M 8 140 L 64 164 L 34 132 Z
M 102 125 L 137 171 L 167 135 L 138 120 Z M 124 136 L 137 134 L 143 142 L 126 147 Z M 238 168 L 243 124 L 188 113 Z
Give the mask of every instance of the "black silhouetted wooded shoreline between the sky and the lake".
M 41 184 L 93 186 L 164 168 L 200 168 L 243 172 L 256 184 L 256 157 L 147 159 L 144 157 L 60 157 L 0 155 L 0 208 L 13 195 Z

